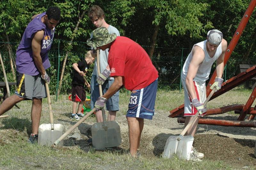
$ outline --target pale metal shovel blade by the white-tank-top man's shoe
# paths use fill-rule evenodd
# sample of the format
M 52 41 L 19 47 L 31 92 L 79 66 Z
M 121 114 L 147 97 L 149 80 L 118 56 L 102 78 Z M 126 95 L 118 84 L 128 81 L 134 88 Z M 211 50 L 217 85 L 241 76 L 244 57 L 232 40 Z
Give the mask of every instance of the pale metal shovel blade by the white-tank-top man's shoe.
M 180 141 L 178 141 L 177 138 L 178 136 L 170 136 L 167 139 L 163 157 L 172 158 L 176 154 L 180 159 L 189 160 L 194 137 L 183 136 Z

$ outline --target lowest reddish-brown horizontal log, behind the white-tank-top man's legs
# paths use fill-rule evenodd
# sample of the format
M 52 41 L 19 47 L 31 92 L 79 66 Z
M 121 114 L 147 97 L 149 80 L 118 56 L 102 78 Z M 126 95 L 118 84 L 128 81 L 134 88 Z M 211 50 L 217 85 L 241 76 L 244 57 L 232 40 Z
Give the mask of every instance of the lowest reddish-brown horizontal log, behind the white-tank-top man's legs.
M 178 123 L 185 123 L 185 118 L 178 118 L 177 121 Z M 245 122 L 237 120 L 199 119 L 198 124 L 256 128 L 256 122 Z

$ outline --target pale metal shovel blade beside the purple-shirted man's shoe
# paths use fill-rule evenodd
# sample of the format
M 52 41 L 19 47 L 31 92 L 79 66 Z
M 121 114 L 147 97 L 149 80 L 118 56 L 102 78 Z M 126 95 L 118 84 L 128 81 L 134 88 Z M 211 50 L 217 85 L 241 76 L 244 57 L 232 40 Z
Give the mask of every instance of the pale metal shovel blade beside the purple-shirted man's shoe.
M 42 124 L 38 129 L 38 144 L 42 146 L 51 146 L 61 135 L 64 134 L 64 126 L 54 124 L 54 130 L 51 130 L 51 124 Z M 63 140 L 55 147 L 61 149 Z

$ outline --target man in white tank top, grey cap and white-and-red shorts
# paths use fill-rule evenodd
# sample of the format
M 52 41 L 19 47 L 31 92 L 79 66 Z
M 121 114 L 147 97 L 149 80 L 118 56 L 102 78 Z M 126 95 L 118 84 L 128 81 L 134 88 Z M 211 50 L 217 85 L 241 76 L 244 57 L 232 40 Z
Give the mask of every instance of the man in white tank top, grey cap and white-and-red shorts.
M 206 100 L 205 81 L 209 79 L 212 64 L 216 60 L 217 78 L 212 84 L 211 89 L 216 87 L 219 90 L 221 88 L 223 82 L 221 77 L 224 69 L 224 54 L 227 49 L 227 41 L 222 37 L 222 33 L 217 29 L 208 31 L 207 40 L 195 44 L 184 63 L 181 82 L 184 88 L 185 126 L 188 125 L 188 122 L 197 111 L 199 112 L 199 116 L 203 117 L 205 115 L 206 106 L 203 106 Z M 199 117 L 185 135 L 195 135 L 198 120 Z M 191 160 L 200 161 L 200 158 L 203 157 L 204 154 L 197 152 L 192 146 Z

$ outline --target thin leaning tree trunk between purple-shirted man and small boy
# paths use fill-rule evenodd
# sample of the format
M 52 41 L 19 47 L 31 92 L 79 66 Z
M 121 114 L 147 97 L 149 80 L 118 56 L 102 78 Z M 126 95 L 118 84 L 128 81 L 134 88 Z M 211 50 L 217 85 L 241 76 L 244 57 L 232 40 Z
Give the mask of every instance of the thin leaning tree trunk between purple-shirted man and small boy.
M 79 24 L 80 24 L 80 21 L 81 21 L 81 19 L 84 17 L 84 14 L 85 14 L 86 11 L 87 11 L 87 10 L 85 10 L 85 11 L 82 13 L 82 15 L 79 17 L 79 19 L 78 19 L 78 21 L 77 21 L 77 23 L 76 23 L 76 27 L 75 27 L 75 29 L 74 29 L 74 31 L 73 31 L 73 34 L 72 34 L 73 36 L 72 36 L 70 42 L 68 43 L 68 45 L 72 45 L 72 42 L 73 42 L 73 40 L 74 40 L 76 31 L 77 31 L 78 26 L 79 26 Z M 62 79 L 63 79 L 63 76 L 64 76 L 64 70 L 65 70 L 65 66 L 66 66 L 66 62 L 67 62 L 67 58 L 68 58 L 68 53 L 69 53 L 69 51 L 66 52 L 65 59 L 64 59 L 64 62 L 63 62 L 63 66 L 62 66 L 62 71 L 61 71 L 61 75 L 60 75 L 60 82 L 59 82 L 59 89 L 58 89 L 58 93 L 57 93 L 58 95 L 60 95 L 60 90 L 61 90 L 61 85 L 62 85 Z

